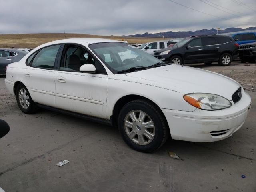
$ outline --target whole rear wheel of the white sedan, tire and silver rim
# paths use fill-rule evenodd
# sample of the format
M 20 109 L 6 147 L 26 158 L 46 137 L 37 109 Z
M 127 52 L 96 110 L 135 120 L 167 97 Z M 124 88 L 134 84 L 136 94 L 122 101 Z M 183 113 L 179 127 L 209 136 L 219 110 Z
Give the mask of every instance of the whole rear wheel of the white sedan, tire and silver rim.
M 34 113 L 38 109 L 24 84 L 18 84 L 16 88 L 16 100 L 20 110 L 26 114 Z

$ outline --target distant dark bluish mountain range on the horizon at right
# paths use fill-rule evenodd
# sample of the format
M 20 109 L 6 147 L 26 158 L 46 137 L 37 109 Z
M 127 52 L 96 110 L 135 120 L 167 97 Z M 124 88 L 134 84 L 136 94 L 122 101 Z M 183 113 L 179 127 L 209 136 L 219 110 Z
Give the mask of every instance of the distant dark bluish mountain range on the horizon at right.
M 224 30 L 219 30 L 218 34 L 221 33 L 229 33 L 229 32 L 238 32 L 238 31 L 244 31 L 244 30 L 254 30 L 256 27 L 248 27 L 246 29 L 236 28 L 236 27 L 230 27 L 226 28 Z M 195 36 L 195 35 L 213 35 L 216 34 L 217 30 L 212 28 L 210 30 L 208 29 L 202 29 L 197 31 L 166 31 L 166 32 L 160 32 L 160 33 L 144 33 L 144 34 L 135 34 L 135 35 L 122 35 L 122 37 L 152 37 L 152 38 L 162 38 L 163 36 L 165 38 L 182 38 L 182 37 L 189 37 L 189 36 Z

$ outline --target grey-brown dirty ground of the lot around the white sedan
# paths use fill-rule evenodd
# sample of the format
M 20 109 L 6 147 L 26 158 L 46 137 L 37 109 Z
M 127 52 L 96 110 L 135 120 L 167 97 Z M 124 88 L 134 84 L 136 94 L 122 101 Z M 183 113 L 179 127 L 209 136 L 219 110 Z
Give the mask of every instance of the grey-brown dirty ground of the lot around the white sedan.
M 23 114 L 0 77 L 0 119 L 11 128 L 0 139 L 0 186 L 6 192 L 255 192 L 256 64 L 190 66 L 242 84 L 252 97 L 250 114 L 226 140 L 168 140 L 151 154 L 130 149 L 116 128 L 48 110 Z M 56 166 L 62 160 L 70 162 Z

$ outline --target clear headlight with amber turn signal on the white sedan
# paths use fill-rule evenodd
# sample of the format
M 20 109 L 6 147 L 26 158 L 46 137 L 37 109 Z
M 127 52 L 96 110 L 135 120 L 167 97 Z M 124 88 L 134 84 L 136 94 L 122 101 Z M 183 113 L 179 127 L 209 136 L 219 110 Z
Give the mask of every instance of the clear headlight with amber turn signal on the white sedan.
M 183 96 L 192 106 L 203 110 L 219 110 L 231 106 L 226 98 L 210 93 L 190 93 Z

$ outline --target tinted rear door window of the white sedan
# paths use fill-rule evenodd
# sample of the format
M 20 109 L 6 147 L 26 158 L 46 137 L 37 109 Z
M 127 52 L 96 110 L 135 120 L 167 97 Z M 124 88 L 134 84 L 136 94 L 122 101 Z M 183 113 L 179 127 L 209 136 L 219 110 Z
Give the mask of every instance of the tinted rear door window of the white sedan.
M 32 61 L 31 66 L 39 68 L 54 68 L 54 62 L 60 45 L 42 48 Z

